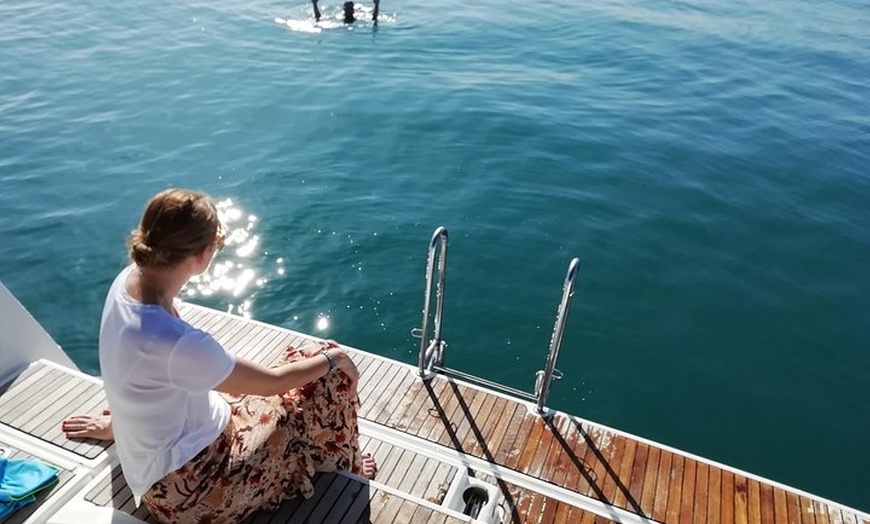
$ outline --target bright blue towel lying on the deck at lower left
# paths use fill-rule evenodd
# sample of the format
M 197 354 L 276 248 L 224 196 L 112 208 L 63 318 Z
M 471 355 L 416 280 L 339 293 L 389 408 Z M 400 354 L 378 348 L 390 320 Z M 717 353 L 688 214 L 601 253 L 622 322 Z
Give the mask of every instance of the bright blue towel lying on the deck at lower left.
M 0 457 L 0 519 L 36 500 L 57 482 L 57 468 L 36 460 Z

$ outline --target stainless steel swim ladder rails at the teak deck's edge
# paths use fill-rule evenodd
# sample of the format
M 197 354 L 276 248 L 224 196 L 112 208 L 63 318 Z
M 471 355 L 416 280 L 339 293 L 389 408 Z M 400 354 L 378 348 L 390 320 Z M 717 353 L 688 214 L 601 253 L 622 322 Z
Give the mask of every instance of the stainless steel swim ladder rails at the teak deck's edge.
M 440 249 L 438 249 L 439 247 Z M 434 289 L 435 315 L 432 317 L 434 332 L 430 338 L 429 321 L 436 258 L 438 261 L 438 281 L 435 283 Z M 430 380 L 437 373 L 454 376 L 507 393 L 508 395 L 532 401 L 535 403 L 535 410 L 540 416 L 545 418 L 551 416 L 553 411 L 546 407 L 547 397 L 550 395 L 550 386 L 553 380 L 562 378 L 562 372 L 556 369 L 556 361 L 559 358 L 559 350 L 562 346 L 562 336 L 565 331 L 565 323 L 568 320 L 568 311 L 571 309 L 571 298 L 574 296 L 574 281 L 577 278 L 579 268 L 579 258 L 572 259 L 568 264 L 568 272 L 565 275 L 565 282 L 562 284 L 562 300 L 556 309 L 556 324 L 553 326 L 553 334 L 550 337 L 550 350 L 547 354 L 547 362 L 544 369 L 535 373 L 534 393 L 528 393 L 444 365 L 444 353 L 447 348 L 447 342 L 441 338 L 441 319 L 444 306 L 444 281 L 447 276 L 447 230 L 444 227 L 437 228 L 432 234 L 432 239 L 429 241 L 429 257 L 426 262 L 426 291 L 423 301 L 423 322 L 421 327 L 411 330 L 411 334 L 420 339 L 420 377 L 423 380 Z

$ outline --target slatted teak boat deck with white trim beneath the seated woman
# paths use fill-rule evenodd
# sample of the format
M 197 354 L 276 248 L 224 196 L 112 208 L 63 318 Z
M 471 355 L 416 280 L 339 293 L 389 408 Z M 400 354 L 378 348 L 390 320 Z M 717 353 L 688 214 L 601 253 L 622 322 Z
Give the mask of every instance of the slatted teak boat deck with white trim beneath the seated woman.
M 180 313 L 264 365 L 287 346 L 317 340 L 190 304 Z M 445 502 L 467 476 L 494 486 L 512 523 L 870 524 L 870 515 L 749 473 L 564 413 L 543 420 L 524 401 L 442 376 L 423 382 L 414 367 L 348 350 L 361 371 L 361 445 L 380 463 L 377 478 L 320 474 L 314 498 L 246 522 L 468 522 Z M 44 361 L 0 388 L 8 431 L 94 467 L 85 501 L 153 521 L 134 507 L 111 445 L 70 442 L 60 432 L 63 418 L 103 407 L 98 380 Z

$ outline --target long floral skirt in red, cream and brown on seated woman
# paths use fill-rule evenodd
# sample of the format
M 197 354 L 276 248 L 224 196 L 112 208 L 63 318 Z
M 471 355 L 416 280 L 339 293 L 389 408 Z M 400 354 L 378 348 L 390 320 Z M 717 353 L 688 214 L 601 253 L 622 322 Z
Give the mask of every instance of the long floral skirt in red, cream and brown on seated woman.
M 279 365 L 328 347 L 337 346 L 288 347 Z M 160 522 L 235 523 L 287 498 L 311 498 L 315 472 L 360 472 L 359 400 L 344 373 L 271 397 L 222 396 L 232 408 L 224 432 L 142 496 Z

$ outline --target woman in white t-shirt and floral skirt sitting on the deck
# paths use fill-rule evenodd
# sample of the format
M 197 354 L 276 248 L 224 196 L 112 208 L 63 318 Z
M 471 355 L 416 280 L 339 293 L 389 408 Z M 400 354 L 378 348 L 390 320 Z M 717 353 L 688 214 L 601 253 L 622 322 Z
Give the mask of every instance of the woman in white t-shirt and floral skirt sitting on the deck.
M 137 505 L 161 522 L 238 522 L 310 498 L 315 471 L 374 475 L 374 459 L 359 452 L 359 373 L 345 351 L 288 348 L 267 369 L 179 318 L 175 297 L 223 245 L 206 195 L 157 194 L 127 245 L 133 264 L 112 284 L 100 324 L 111 418 L 72 417 L 63 429 L 115 439 Z

